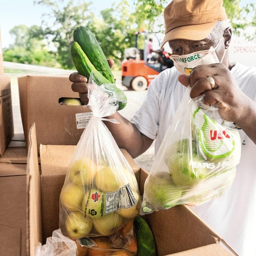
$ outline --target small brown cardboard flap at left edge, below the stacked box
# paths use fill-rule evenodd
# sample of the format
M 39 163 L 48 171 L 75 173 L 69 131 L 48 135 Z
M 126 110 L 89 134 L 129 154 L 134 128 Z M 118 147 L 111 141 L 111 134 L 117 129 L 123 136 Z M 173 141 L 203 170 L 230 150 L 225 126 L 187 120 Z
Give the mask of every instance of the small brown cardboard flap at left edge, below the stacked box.
M 3 156 L 0 157 L 1 163 L 26 164 L 28 150 L 26 148 L 7 148 Z

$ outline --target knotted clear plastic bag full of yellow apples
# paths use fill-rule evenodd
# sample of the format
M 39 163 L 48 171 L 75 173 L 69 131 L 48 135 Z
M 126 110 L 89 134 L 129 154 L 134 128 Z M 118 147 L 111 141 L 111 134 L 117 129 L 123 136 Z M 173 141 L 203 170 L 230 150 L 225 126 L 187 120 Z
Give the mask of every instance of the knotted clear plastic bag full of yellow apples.
M 104 118 L 115 113 L 120 101 L 109 86 L 98 86 L 93 75 L 89 79 L 88 106 L 93 115 L 75 148 L 60 193 L 59 227 L 71 239 L 109 236 L 139 215 L 134 172 L 103 123 L 118 125 Z

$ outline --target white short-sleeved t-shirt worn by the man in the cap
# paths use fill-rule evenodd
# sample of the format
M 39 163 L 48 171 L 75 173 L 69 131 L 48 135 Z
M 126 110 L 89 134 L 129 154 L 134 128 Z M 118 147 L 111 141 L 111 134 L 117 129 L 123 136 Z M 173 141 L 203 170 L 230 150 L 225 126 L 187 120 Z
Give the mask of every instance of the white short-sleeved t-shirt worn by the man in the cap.
M 256 101 L 256 68 L 236 63 L 231 74 L 241 90 Z M 174 67 L 161 72 L 131 120 L 142 134 L 156 139 L 155 154 L 186 90 L 178 76 Z M 256 131 L 256 124 L 252 125 Z M 191 209 L 240 256 L 251 256 L 256 255 L 256 145 L 241 129 L 239 134 L 241 160 L 231 188 L 220 198 Z

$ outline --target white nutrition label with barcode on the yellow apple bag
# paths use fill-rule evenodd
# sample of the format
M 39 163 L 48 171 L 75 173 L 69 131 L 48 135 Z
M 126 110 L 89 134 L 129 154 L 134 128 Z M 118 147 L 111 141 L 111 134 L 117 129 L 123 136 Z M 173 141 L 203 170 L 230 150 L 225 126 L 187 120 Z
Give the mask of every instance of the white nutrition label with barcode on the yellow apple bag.
M 134 197 L 130 184 L 120 188 L 120 190 L 105 193 L 106 209 L 105 214 L 117 211 L 120 208 L 129 208 L 136 205 L 137 200 Z

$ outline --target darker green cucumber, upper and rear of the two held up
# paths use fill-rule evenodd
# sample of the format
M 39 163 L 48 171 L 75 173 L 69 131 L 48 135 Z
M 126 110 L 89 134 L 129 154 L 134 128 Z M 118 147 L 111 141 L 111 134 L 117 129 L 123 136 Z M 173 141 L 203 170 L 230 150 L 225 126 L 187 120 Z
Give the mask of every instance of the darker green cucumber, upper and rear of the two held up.
M 90 29 L 79 26 L 74 30 L 73 37 L 74 41 L 78 42 L 96 70 L 102 72 L 103 77 L 107 78 L 110 83 L 115 83 L 107 58 Z

